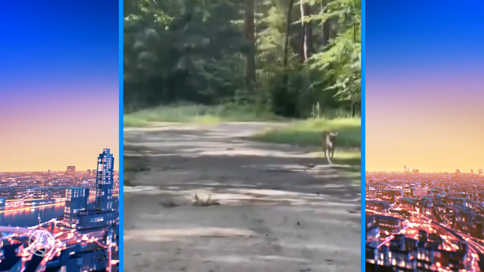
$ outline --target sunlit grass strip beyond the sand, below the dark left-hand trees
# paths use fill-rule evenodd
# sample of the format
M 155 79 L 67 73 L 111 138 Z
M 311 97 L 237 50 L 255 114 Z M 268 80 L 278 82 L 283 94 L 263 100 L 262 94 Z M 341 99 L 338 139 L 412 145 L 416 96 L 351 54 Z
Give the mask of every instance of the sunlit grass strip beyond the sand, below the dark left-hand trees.
M 275 121 L 274 114 L 255 106 L 224 104 L 218 106 L 173 105 L 143 109 L 124 115 L 124 127 L 147 127 L 155 122 L 213 124 L 229 121 Z

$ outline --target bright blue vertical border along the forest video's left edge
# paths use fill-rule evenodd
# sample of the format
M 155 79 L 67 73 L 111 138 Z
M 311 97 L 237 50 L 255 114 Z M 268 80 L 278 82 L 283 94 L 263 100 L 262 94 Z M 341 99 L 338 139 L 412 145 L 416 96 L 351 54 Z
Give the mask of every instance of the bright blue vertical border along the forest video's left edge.
M 119 271 L 120 272 L 123 272 L 124 271 L 124 248 L 123 248 L 123 244 L 124 244 L 124 237 L 123 237 L 123 222 L 124 222 L 124 150 L 123 150 L 123 146 L 124 146 L 124 133 L 123 133 L 123 124 L 124 124 L 124 121 L 123 121 L 123 113 L 124 113 L 124 110 L 123 110 L 123 98 L 124 98 L 124 95 L 123 95 L 123 63 L 124 63 L 124 55 L 123 55 L 123 41 L 124 41 L 124 35 L 123 35 L 123 29 L 124 29 L 124 26 L 123 26 L 123 22 L 124 22 L 124 16 L 123 16 L 123 1 L 120 0 L 119 1 L 119 37 L 118 37 L 118 41 L 119 41 L 119 129 L 120 129 L 120 135 L 119 135 L 119 162 L 120 162 L 120 178 L 119 178 L 119 184 L 120 184 L 120 207 L 119 207 L 119 217 L 120 217 L 120 230 L 119 230 L 119 241 L 120 241 L 120 244 L 119 244 L 119 254 L 120 254 L 120 257 L 119 257 L 119 260 L 120 260 L 120 264 L 119 264 Z

